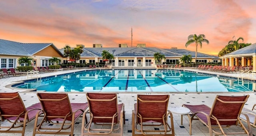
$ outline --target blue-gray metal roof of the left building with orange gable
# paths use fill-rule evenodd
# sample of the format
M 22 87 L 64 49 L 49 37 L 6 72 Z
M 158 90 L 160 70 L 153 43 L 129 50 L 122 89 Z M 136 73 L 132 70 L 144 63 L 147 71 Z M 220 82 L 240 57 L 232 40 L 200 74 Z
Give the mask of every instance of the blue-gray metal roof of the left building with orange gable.
M 0 54 L 31 56 L 48 46 L 52 46 L 60 53 L 53 43 L 19 43 L 0 39 Z M 60 54 L 62 55 L 62 53 Z

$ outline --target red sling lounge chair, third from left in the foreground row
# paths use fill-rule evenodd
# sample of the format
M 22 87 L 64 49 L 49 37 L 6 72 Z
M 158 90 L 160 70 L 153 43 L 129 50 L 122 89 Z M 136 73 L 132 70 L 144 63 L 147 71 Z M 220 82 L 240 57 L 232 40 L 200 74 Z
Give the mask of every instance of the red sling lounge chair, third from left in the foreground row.
M 125 123 L 124 104 L 117 103 L 117 95 L 115 93 L 86 93 L 86 97 L 89 104 L 90 120 L 85 124 L 84 119 L 87 112 L 84 112 L 81 135 L 122 136 L 123 123 Z M 99 128 L 98 125 L 107 125 L 109 128 Z M 115 132 L 117 130 L 118 132 Z

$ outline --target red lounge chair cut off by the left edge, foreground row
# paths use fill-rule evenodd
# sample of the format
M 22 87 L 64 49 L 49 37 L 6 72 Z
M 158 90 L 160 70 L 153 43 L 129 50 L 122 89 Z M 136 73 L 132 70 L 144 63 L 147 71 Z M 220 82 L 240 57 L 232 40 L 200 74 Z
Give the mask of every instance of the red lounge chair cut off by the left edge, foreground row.
M 33 104 L 25 108 L 18 92 L 0 93 L 0 120 L 7 120 L 10 125 L 0 123 L 1 133 L 21 133 L 24 136 L 26 124 L 36 117 L 36 112 L 40 111 L 40 103 Z M 39 114 L 42 112 L 39 112 Z M 15 129 L 21 127 L 22 129 Z

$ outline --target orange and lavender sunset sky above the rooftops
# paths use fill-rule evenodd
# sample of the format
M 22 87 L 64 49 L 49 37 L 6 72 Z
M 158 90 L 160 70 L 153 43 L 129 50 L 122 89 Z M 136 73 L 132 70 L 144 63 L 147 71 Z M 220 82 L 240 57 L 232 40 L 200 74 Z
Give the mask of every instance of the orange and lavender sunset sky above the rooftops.
M 204 34 L 199 52 L 217 55 L 228 41 L 256 43 L 256 0 L 1 0 L 0 39 L 92 47 L 186 49 L 190 34 Z M 242 41 L 240 41 L 242 42 Z M 195 45 L 187 47 L 195 51 Z

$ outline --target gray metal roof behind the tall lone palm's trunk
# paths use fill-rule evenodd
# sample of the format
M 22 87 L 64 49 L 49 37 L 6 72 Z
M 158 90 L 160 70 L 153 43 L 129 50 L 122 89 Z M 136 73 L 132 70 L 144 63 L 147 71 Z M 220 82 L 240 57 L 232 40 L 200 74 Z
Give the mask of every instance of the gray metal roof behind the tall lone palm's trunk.
M 174 53 L 178 53 L 178 54 L 181 54 L 181 55 L 191 55 L 192 57 L 196 57 L 196 51 L 190 51 L 190 50 L 187 50 L 187 49 L 165 49 L 165 50 L 171 51 L 171 52 L 174 52 Z M 204 54 L 204 53 L 200 53 L 200 52 L 197 52 L 197 57 L 218 58 L 218 56 L 208 55 L 208 54 Z

